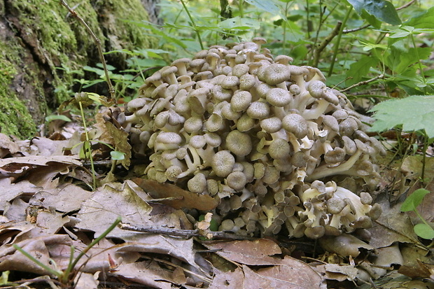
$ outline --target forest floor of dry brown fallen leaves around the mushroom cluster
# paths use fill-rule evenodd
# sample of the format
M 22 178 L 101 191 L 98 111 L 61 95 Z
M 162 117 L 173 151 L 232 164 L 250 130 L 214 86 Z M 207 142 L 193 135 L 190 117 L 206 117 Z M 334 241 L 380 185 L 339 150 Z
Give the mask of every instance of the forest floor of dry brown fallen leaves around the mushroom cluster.
M 102 122 L 97 117 L 92 139 L 110 143 Z M 109 150 L 98 143 L 92 188 L 90 162 L 79 157 L 78 122 L 53 121 L 46 135 L 20 141 L 0 134 L 3 288 L 434 288 L 432 244 L 414 233 L 419 218 L 400 212 L 414 190 L 434 190 L 433 158 L 427 158 L 424 184 L 421 156 L 389 152 L 379 160 L 375 202 L 383 213 L 370 238 L 243 239 L 209 231 L 207 219 L 195 229 L 181 209 L 141 188 L 134 174 L 143 167 L 112 167 Z M 434 195 L 418 209 L 432 221 Z M 123 228 L 116 226 L 118 216 Z

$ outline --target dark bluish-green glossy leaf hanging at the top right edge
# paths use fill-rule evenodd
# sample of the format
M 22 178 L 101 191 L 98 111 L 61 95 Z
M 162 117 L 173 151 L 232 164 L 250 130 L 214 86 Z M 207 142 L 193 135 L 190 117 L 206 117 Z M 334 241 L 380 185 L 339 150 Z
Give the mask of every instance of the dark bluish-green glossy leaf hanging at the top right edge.
M 395 7 L 385 0 L 348 0 L 358 15 L 363 16 L 363 10 L 368 14 L 377 17 L 378 20 L 392 25 L 401 24 Z

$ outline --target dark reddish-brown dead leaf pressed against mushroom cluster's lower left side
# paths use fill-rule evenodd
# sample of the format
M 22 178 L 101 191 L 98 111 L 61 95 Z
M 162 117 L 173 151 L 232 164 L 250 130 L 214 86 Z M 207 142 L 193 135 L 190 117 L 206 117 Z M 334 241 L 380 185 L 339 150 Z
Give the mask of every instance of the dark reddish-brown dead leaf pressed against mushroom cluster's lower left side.
M 144 189 L 154 199 L 176 198 L 159 201 L 175 209 L 210 211 L 216 209 L 218 205 L 217 200 L 210 195 L 198 195 L 169 183 L 158 183 L 158 181 L 144 180 L 143 178 L 134 178 L 132 181 L 137 183 L 140 188 Z

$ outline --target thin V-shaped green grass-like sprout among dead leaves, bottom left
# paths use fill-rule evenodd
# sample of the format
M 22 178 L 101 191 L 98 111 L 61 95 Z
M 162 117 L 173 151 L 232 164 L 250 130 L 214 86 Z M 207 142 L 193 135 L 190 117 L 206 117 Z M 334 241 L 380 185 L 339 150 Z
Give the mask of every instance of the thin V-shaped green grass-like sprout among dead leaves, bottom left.
M 109 234 L 120 223 L 120 221 L 121 221 L 121 218 L 119 216 L 118 218 L 116 218 L 114 223 L 111 224 L 111 226 L 106 231 L 104 231 L 99 237 L 94 239 L 94 241 L 92 241 L 92 243 L 90 243 L 83 251 L 81 251 L 76 258 L 74 258 L 75 247 L 71 246 L 71 255 L 69 255 L 68 267 L 66 267 L 66 269 L 64 271 L 56 270 L 56 269 L 52 269 L 52 268 L 48 267 L 47 265 L 43 264 L 42 262 L 40 262 L 39 260 L 34 258 L 32 255 L 30 255 L 29 253 L 24 251 L 17 244 L 14 244 L 13 248 L 15 248 L 17 251 L 20 251 L 20 253 L 22 253 L 22 255 L 25 255 L 32 262 L 34 262 L 36 265 L 42 267 L 47 272 L 49 272 L 50 274 L 55 276 L 57 278 L 57 280 L 60 283 L 62 283 L 62 285 L 67 287 L 69 285 L 72 285 L 72 282 L 74 281 L 74 279 L 76 278 L 76 275 L 78 274 L 78 269 L 76 269 L 76 265 L 77 265 L 78 261 L 80 261 L 80 259 L 83 258 L 84 255 L 86 255 L 86 253 L 90 250 L 90 248 L 92 248 L 93 246 L 98 244 L 99 241 L 101 241 L 104 237 L 106 237 L 107 234 Z

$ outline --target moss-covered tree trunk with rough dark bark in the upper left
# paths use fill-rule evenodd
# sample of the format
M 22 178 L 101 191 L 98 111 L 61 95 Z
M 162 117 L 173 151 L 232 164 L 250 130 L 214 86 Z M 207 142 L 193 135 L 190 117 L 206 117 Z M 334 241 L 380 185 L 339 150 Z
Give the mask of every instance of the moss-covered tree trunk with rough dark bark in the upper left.
M 101 40 L 103 50 L 110 51 L 153 47 L 152 39 L 133 22 L 155 21 L 156 1 L 66 2 Z M 113 66 L 125 66 L 123 55 L 106 58 Z M 1 132 L 33 136 L 46 113 L 69 97 L 73 71 L 98 62 L 92 37 L 58 0 L 0 0 Z

